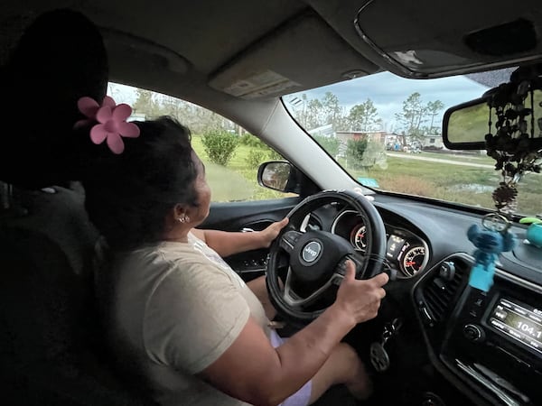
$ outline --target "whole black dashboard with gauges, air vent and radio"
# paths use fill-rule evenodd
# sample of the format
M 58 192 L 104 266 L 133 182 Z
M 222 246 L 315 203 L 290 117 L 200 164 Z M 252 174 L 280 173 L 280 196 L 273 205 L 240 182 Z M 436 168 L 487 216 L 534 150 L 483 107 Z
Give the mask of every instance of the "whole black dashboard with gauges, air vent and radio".
M 523 244 L 525 229 L 512 227 L 519 247 L 501 255 L 494 286 L 485 293 L 469 285 L 474 246 L 466 235 L 481 215 L 378 199 L 386 263 L 397 270 L 388 296 L 398 308 L 386 317 L 395 318 L 394 311 L 404 317 L 406 308 L 412 309 L 411 321 L 423 337 L 409 343 L 408 351 L 423 348 L 444 381 L 473 404 L 542 404 L 542 253 Z M 367 250 L 366 221 L 348 207 L 319 208 L 304 223 L 307 229 L 341 235 L 360 254 Z M 408 340 L 396 338 L 401 339 Z

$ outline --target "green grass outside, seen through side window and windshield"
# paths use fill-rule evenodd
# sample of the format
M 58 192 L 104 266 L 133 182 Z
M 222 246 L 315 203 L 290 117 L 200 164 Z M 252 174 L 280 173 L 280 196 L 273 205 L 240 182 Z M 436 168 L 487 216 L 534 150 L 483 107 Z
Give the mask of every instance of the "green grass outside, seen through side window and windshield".
M 213 201 L 261 200 L 284 198 L 284 193 L 266 189 L 257 184 L 257 168 L 248 165 L 251 147 L 239 145 L 226 167 L 211 164 L 203 151 L 201 138 L 192 137 L 192 146 L 207 168 L 207 179 L 213 193 Z M 398 152 L 403 153 L 403 152 Z M 440 158 L 448 161 L 469 161 L 493 165 L 491 158 L 449 153 L 423 152 L 416 156 Z M 263 161 L 268 161 L 264 158 Z M 344 161 L 340 161 L 344 165 Z M 500 173 L 491 168 L 474 168 L 451 163 L 418 161 L 389 156 L 386 165 L 375 166 L 369 171 L 351 171 L 354 179 L 359 177 L 378 180 L 379 189 L 400 193 L 438 198 L 457 203 L 494 208 L 492 191 L 499 186 Z M 519 213 L 534 215 L 542 212 L 542 175 L 530 173 L 519 182 Z

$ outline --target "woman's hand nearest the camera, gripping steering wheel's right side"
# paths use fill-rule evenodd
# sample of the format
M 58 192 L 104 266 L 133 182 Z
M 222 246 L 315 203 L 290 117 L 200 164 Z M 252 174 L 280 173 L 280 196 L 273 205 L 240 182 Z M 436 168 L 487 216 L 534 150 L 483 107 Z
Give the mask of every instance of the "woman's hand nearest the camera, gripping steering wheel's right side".
M 386 296 L 382 286 L 388 283 L 388 280 L 386 273 L 378 273 L 367 280 L 357 280 L 354 263 L 347 261 L 344 279 L 332 306 L 354 318 L 356 324 L 375 318 L 380 301 Z

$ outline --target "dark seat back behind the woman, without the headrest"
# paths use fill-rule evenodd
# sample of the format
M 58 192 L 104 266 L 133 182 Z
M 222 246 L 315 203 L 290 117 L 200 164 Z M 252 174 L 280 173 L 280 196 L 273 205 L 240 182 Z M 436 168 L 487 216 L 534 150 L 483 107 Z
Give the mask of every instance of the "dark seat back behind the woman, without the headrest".
M 108 363 L 92 289 L 98 233 L 72 189 L 18 190 L 0 216 L 0 382 L 12 404 L 142 405 Z

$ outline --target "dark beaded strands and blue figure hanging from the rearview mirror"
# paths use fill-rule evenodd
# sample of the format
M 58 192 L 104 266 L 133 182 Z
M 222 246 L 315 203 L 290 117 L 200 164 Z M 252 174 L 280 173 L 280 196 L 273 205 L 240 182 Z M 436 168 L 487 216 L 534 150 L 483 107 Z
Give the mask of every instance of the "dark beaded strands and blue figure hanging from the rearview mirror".
M 476 247 L 469 285 L 481 291 L 490 291 L 500 253 L 517 245 L 516 236 L 509 232 L 509 219 L 518 208 L 518 184 L 528 172 L 539 173 L 542 166 L 542 116 L 535 116 L 542 102 L 535 103 L 535 89 L 542 89 L 542 69 L 517 69 L 509 83 L 484 95 L 490 107 L 486 151 L 502 179 L 491 194 L 497 211 L 483 217 L 481 226 L 474 224 L 467 231 Z M 542 220 L 531 225 L 531 244 L 542 246 L 539 223 Z

